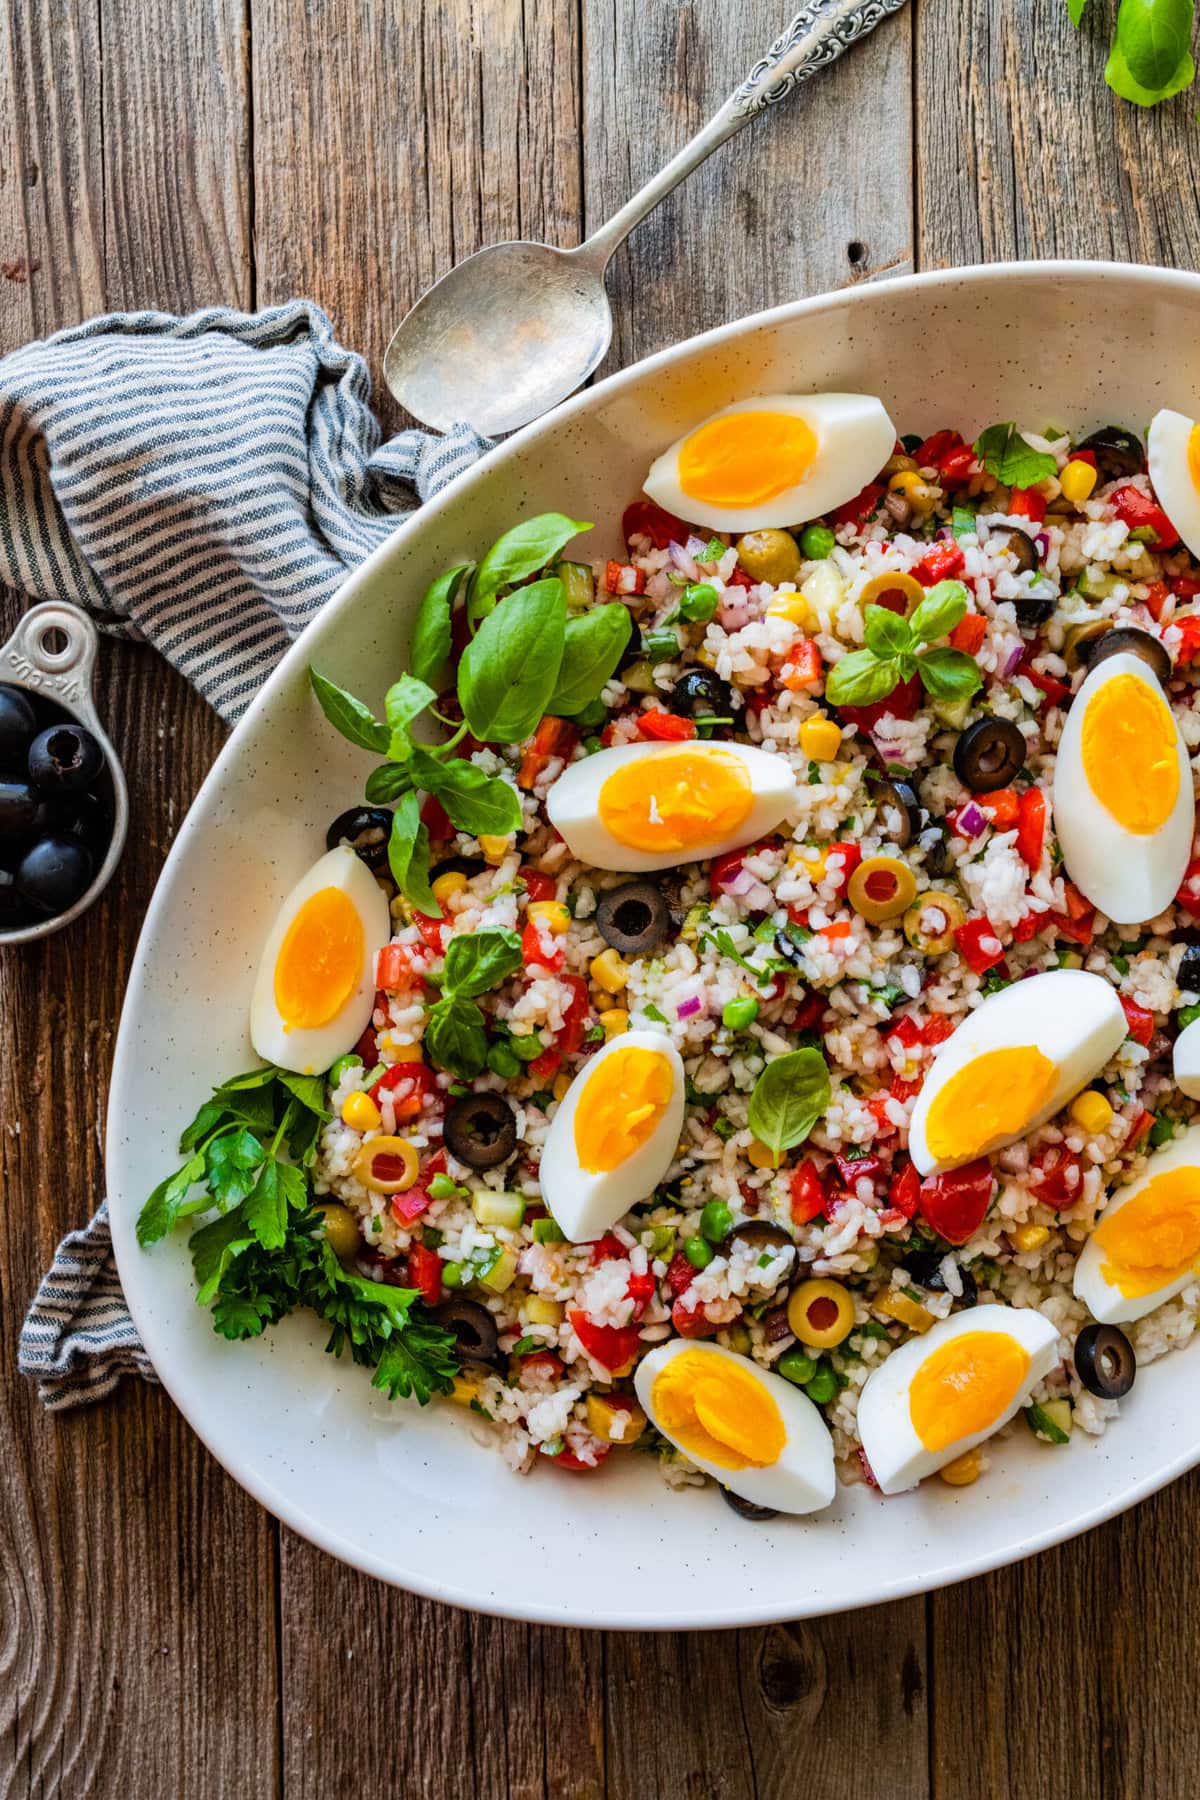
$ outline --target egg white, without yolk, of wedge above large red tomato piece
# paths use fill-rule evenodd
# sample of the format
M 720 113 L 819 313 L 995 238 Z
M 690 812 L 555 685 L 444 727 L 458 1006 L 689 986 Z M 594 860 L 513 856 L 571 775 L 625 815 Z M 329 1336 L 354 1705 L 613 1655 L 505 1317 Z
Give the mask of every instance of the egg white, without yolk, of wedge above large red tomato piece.
M 909 1127 L 909 1152 L 918 1170 L 934 1175 L 957 1168 L 1043 1125 L 1105 1067 L 1124 1035 L 1126 1021 L 1115 988 L 1103 976 L 1083 968 L 1051 968 L 991 994 L 950 1033 L 925 1076 Z M 927 1138 L 928 1111 L 936 1096 L 977 1057 L 1024 1044 L 1040 1049 L 1058 1067 L 1049 1102 L 1020 1132 L 990 1139 L 964 1156 L 939 1163 Z

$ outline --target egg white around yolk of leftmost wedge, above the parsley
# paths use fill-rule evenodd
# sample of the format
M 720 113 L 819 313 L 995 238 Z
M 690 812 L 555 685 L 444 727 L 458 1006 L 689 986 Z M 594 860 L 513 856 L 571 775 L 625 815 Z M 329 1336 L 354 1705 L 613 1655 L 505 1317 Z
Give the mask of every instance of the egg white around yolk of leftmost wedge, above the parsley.
M 354 992 L 327 1024 L 313 1026 L 311 1030 L 290 1028 L 281 1019 L 275 1004 L 275 961 L 291 920 L 304 902 L 322 887 L 338 887 L 358 913 L 363 929 L 362 974 Z M 390 936 L 392 920 L 387 896 L 362 857 L 354 855 L 349 846 L 340 844 L 324 855 L 320 862 L 315 862 L 279 907 L 275 923 L 263 945 L 263 959 L 250 999 L 250 1040 L 255 1053 L 264 1062 L 273 1062 L 281 1069 L 291 1069 L 297 1075 L 313 1075 L 327 1069 L 347 1049 L 353 1049 L 371 1024 L 374 963 Z

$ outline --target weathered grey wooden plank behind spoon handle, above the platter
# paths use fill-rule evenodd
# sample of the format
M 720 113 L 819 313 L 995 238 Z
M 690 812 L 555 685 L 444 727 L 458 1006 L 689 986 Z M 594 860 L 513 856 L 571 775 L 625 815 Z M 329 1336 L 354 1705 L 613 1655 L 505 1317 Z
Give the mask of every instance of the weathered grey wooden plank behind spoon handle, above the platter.
M 772 0 L 583 0 L 588 230 L 716 112 L 786 16 Z M 910 31 L 907 13 L 887 20 L 637 229 L 610 268 L 615 335 L 601 373 L 765 306 L 909 268 Z

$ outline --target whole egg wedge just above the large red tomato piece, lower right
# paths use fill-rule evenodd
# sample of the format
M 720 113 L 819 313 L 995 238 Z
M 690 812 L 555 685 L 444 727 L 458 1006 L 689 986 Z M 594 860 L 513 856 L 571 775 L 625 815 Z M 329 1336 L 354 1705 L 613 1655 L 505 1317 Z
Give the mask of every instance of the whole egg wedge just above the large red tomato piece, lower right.
M 950 1033 L 909 1127 L 923 1175 L 973 1163 L 1043 1125 L 1126 1033 L 1115 988 L 1083 968 L 1051 968 L 993 994 Z

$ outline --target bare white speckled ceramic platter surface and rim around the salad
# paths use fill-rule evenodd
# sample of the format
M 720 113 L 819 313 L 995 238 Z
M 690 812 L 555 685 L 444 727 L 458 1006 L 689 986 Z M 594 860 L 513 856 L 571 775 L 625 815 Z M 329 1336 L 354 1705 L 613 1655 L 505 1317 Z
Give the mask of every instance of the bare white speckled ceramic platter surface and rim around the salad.
M 507 1472 L 455 1408 L 392 1408 L 322 1355 L 311 1321 L 225 1345 L 193 1303 L 182 1242 L 137 1249 L 142 1197 L 180 1121 L 248 1060 L 245 1010 L 281 895 L 360 790 L 324 725 L 309 659 L 381 698 L 405 619 L 441 567 L 525 511 L 601 522 L 696 418 L 772 387 L 862 387 L 900 427 L 995 418 L 1090 428 L 1200 410 L 1200 277 L 1015 263 L 901 277 L 761 313 L 628 369 L 493 452 L 345 581 L 230 738 L 171 851 L 126 995 L 108 1114 L 113 1240 L 139 1330 L 193 1427 L 264 1507 L 336 1557 L 437 1600 L 549 1624 L 689 1629 L 869 1606 L 1061 1543 L 1200 1460 L 1195 1355 L 1142 1373 L 1121 1422 L 1067 1451 L 1025 1433 L 977 1489 L 838 1494 L 752 1526 L 712 1490 L 673 1494 L 648 1460 L 599 1476 Z M 1168 382 L 1164 371 L 1171 371 Z M 590 511 L 581 509 L 585 500 Z

